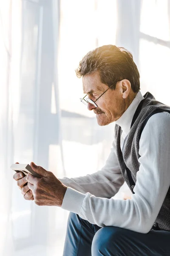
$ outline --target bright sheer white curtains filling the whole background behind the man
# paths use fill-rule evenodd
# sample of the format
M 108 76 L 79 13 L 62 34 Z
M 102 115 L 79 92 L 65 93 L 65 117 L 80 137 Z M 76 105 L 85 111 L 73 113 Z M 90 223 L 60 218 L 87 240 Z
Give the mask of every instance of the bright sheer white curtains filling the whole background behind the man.
M 34 160 L 57 177 L 77 177 L 109 154 L 114 124 L 99 127 L 79 102 L 74 70 L 83 55 L 126 47 L 142 93 L 170 105 L 169 26 L 170 0 L 0 0 L 0 255 L 61 256 L 68 217 L 25 201 L 11 163 Z

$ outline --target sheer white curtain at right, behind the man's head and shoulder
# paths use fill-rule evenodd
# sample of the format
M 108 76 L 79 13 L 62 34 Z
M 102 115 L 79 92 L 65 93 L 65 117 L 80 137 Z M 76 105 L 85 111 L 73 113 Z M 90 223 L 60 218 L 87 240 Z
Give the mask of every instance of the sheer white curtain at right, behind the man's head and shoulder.
M 118 0 L 116 44 L 133 53 L 141 92 L 170 105 L 170 0 Z

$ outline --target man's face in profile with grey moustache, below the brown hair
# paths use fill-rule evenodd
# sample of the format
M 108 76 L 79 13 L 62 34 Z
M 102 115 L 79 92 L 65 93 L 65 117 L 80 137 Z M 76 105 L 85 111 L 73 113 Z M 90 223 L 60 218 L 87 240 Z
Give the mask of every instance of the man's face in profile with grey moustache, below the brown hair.
M 93 101 L 108 89 L 108 86 L 100 81 L 98 72 L 84 76 L 82 78 L 82 84 L 84 93 L 88 94 L 88 98 Z M 122 116 L 127 108 L 127 101 L 123 98 L 125 97 L 124 91 L 126 89 L 122 81 L 119 81 L 116 84 L 115 90 L 107 90 L 107 92 L 96 101 L 97 108 L 91 103 L 88 103 L 88 110 L 94 111 L 99 125 L 108 125 Z M 128 88 L 128 94 L 129 90 Z

